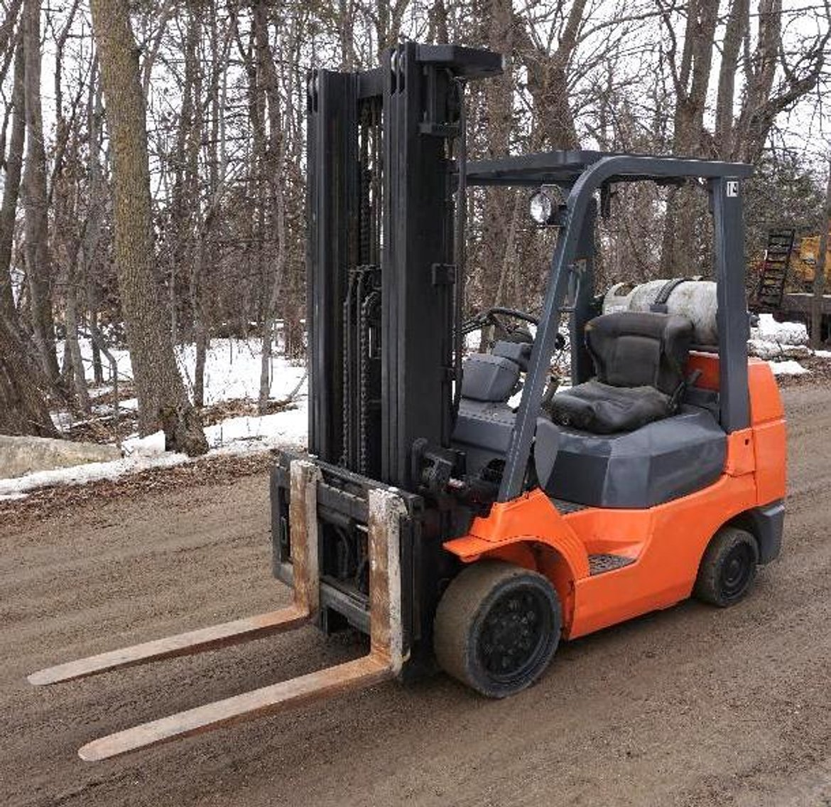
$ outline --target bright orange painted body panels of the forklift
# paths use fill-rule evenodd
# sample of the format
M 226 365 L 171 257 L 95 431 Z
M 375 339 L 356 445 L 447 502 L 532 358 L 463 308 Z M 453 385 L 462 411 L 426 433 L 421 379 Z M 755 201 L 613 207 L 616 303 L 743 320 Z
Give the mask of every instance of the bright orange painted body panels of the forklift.
M 693 354 L 698 383 L 718 389 L 718 357 Z M 495 503 L 470 532 L 445 543 L 464 562 L 499 557 L 546 574 L 563 604 L 563 636 L 583 636 L 689 597 L 701 556 L 730 519 L 784 498 L 785 426 L 779 389 L 765 362 L 748 363 L 750 428 L 727 436 L 721 477 L 703 490 L 641 510 L 588 507 L 561 513 L 535 489 Z M 596 576 L 588 556 L 635 562 Z

